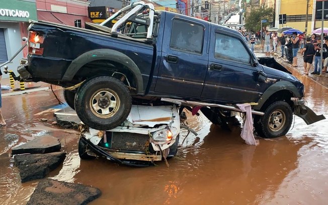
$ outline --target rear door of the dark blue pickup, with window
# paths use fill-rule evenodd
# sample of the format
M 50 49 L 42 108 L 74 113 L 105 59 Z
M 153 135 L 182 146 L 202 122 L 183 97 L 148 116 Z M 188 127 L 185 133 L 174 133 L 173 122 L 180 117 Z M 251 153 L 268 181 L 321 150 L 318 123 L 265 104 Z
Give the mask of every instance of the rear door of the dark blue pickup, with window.
M 208 24 L 170 16 L 167 19 L 155 92 L 200 97 L 208 65 L 204 41 Z

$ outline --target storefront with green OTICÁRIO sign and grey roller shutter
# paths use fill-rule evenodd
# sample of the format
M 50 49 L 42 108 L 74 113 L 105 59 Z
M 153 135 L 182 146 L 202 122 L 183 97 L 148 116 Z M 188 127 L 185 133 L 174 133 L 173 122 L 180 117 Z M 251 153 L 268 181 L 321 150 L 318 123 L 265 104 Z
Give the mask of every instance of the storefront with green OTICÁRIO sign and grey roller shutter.
M 37 20 L 35 0 L 2 1 L 0 4 L 0 63 L 6 62 L 22 47 L 22 37 L 28 36 L 29 20 Z M 12 63 L 8 64 L 8 67 L 15 70 L 20 59 L 26 54 L 27 50 L 23 50 Z

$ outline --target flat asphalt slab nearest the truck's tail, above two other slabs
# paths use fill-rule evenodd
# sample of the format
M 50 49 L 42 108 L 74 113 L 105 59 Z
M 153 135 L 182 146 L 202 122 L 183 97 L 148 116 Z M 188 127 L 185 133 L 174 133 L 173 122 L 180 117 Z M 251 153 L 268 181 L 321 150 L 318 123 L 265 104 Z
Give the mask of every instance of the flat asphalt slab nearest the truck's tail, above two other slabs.
M 12 149 L 12 154 L 44 154 L 50 152 L 58 152 L 61 148 L 57 138 L 52 136 L 38 137 L 30 142 L 27 142 Z

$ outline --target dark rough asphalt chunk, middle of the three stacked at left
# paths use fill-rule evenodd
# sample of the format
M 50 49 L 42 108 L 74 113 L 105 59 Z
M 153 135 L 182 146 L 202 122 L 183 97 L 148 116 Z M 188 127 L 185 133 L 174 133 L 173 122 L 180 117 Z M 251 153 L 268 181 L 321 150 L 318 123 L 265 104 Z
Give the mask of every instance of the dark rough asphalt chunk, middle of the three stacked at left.
M 57 168 L 65 159 L 65 152 L 53 152 L 47 154 L 15 155 L 15 165 L 20 170 L 21 181 L 42 179 Z

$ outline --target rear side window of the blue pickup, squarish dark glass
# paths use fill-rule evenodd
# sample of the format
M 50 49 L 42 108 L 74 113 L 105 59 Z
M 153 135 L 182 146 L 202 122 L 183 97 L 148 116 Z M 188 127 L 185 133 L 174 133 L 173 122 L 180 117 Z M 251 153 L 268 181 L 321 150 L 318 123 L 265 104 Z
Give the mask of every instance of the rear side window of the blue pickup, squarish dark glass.
M 173 20 L 170 48 L 187 53 L 202 54 L 204 28 L 191 22 Z

